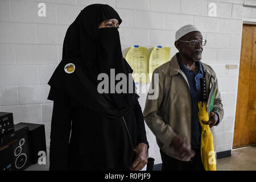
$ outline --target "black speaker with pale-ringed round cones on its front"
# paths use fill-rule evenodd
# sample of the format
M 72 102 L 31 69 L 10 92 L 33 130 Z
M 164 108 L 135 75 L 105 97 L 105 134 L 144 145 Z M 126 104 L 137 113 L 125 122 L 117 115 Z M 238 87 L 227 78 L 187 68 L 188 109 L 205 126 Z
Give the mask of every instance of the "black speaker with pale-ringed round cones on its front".
M 28 127 L 14 125 L 14 131 L 0 138 L 0 171 L 20 171 L 31 165 Z

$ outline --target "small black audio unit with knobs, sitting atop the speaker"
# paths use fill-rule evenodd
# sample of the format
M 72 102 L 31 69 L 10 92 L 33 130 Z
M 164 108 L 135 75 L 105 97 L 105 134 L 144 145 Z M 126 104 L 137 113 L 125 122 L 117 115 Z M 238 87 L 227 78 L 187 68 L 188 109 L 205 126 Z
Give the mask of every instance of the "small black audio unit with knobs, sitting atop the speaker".
M 13 113 L 0 112 L 0 137 L 13 130 Z

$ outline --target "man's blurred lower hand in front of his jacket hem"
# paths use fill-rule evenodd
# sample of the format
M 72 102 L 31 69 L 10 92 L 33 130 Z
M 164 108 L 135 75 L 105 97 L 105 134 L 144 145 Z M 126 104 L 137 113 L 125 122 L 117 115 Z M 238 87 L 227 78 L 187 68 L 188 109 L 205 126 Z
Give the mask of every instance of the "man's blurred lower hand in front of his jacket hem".
M 193 156 L 195 156 L 195 152 L 180 135 L 176 135 L 176 137 L 172 139 L 171 146 L 174 147 L 181 159 L 193 158 Z

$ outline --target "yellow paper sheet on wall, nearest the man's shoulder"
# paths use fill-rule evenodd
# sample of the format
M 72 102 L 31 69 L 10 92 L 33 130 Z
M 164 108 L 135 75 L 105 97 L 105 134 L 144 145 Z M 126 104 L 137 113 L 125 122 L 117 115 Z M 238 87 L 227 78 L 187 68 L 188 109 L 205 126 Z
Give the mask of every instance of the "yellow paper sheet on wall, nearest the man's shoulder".
M 150 54 L 150 60 L 148 63 L 148 73 L 149 73 L 150 81 L 155 68 L 160 67 L 160 65 L 170 60 L 170 51 L 171 51 L 170 47 L 162 47 L 162 46 L 154 47 L 154 49 Z

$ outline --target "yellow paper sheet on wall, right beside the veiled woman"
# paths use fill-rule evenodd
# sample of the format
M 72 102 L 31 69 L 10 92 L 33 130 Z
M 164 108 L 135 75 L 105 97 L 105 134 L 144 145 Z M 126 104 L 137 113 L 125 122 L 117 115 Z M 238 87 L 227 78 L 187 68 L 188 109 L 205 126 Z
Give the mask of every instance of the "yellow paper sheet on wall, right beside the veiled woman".
M 135 84 L 147 83 L 147 48 L 132 46 L 127 52 L 125 59 L 133 69 Z

